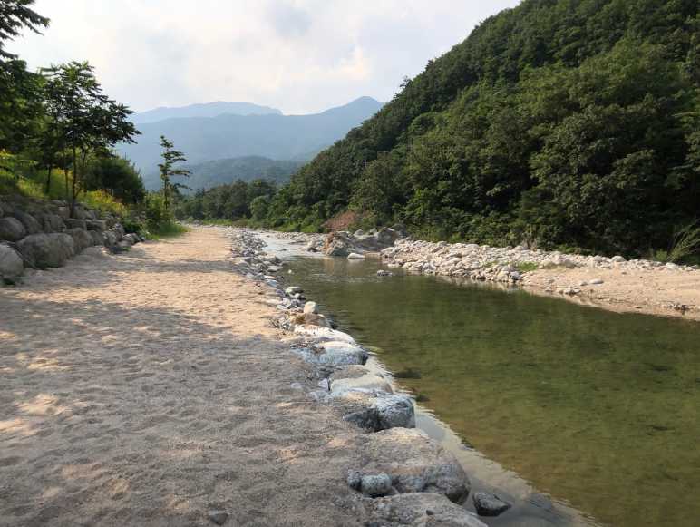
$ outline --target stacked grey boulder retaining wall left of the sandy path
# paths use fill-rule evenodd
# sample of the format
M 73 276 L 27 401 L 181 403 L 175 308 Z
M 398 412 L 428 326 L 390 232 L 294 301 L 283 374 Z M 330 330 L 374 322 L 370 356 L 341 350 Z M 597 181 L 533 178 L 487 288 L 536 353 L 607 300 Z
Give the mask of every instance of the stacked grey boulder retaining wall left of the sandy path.
M 125 250 L 142 241 L 127 234 L 112 214 L 78 204 L 70 215 L 60 200 L 0 198 L 0 285 L 14 283 L 25 268 L 60 268 L 93 246 Z

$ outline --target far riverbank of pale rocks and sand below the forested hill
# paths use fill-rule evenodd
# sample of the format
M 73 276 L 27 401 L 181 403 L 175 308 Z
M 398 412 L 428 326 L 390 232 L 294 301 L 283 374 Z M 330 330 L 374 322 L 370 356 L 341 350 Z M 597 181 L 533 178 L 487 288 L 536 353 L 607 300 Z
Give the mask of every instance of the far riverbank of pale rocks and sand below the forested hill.
M 410 273 L 521 286 L 535 293 L 559 295 L 614 311 L 700 320 L 697 266 L 523 247 L 433 243 L 404 234 L 399 226 L 394 226 L 354 234 L 287 233 L 283 238 L 326 256 L 352 259 L 378 252 L 387 267 Z M 382 270 L 379 274 L 388 276 L 390 272 Z

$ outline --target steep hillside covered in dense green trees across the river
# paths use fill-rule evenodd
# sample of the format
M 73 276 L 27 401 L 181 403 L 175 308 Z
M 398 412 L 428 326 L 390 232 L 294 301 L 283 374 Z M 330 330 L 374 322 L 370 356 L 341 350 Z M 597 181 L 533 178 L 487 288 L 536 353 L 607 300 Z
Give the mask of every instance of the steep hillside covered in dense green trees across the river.
M 642 253 L 700 214 L 697 0 L 525 0 L 406 80 L 267 218 Z

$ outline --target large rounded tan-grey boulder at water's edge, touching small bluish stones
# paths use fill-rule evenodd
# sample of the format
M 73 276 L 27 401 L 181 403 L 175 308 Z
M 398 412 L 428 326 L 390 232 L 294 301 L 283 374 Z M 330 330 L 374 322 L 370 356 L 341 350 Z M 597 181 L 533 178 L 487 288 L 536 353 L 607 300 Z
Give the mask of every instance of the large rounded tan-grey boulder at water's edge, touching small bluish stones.
M 462 503 L 471 488 L 457 458 L 427 434 L 414 428 L 392 428 L 367 434 L 368 462 L 361 473 L 388 473 L 399 493 L 438 493 Z

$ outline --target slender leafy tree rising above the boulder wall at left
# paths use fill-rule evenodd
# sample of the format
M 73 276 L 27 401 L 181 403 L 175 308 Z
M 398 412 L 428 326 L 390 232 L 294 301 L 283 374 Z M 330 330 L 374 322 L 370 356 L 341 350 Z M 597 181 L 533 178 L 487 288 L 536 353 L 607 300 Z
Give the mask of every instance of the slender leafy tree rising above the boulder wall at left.
M 71 213 L 75 200 L 85 190 L 85 172 L 90 156 L 103 153 L 117 142 L 134 142 L 139 132 L 127 121 L 131 110 L 104 93 L 87 63 L 71 62 L 52 66 L 47 77 L 47 114 L 71 152 L 73 182 Z

